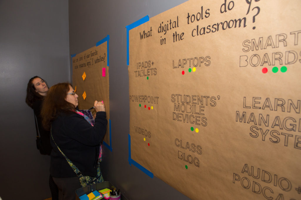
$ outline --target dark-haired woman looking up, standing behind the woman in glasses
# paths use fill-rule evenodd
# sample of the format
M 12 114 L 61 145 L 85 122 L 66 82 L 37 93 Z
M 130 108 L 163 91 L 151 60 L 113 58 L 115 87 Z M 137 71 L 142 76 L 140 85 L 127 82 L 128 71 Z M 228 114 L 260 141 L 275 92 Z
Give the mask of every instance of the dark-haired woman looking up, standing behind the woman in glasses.
M 44 97 L 48 92 L 48 85 L 45 80 L 39 76 L 34 76 L 29 79 L 26 89 L 26 104 L 33 109 L 36 115 L 37 125 L 42 140 L 43 154 L 50 155 L 52 147 L 50 144 L 50 132 L 42 126 L 41 108 Z M 40 151 L 41 152 L 41 151 Z M 58 188 L 54 183 L 51 175 L 49 176 L 49 188 L 51 191 L 52 200 L 58 200 Z

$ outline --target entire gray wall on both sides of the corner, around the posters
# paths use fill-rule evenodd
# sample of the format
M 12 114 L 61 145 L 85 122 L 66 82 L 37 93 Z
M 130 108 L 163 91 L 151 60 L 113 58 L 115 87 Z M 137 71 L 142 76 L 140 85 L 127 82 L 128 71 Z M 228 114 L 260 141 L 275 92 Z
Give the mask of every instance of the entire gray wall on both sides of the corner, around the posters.
M 110 35 L 113 152 L 104 147 L 105 180 L 133 200 L 189 199 L 128 162 L 129 78 L 125 27 L 183 2 L 185 0 L 72 0 L 68 5 L 67 0 L 0 0 L 0 196 L 3 200 L 15 199 L 15 194 L 30 200 L 51 197 L 49 156 L 42 156 L 36 150 L 33 111 L 25 104 L 29 78 L 39 75 L 49 86 L 70 81 L 70 54 L 95 46 L 106 35 Z

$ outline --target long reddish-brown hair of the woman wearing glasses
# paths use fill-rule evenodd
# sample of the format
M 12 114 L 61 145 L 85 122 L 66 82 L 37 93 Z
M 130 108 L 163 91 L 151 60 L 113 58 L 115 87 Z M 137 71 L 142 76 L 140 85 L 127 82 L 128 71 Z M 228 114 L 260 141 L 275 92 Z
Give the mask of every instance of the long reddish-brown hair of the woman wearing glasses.
M 59 114 L 70 114 L 75 111 L 74 105 L 65 100 L 69 91 L 69 86 L 71 86 L 70 83 L 58 83 L 49 88 L 41 110 L 42 123 L 46 130 L 50 129 L 51 123 L 59 116 Z

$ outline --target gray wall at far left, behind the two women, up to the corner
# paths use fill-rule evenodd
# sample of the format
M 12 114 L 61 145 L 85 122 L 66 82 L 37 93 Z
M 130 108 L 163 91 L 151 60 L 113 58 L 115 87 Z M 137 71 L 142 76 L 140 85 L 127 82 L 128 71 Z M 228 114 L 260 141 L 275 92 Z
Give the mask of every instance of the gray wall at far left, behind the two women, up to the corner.
M 0 0 L 0 196 L 51 197 L 49 156 L 36 149 L 28 80 L 70 81 L 67 0 Z

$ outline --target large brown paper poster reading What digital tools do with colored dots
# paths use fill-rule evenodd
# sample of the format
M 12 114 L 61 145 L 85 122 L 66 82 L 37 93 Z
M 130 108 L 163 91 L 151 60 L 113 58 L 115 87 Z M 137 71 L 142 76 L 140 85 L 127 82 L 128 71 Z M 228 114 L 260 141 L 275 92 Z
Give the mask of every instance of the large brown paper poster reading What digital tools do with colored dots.
M 301 199 L 300 8 L 191 0 L 131 29 L 131 158 L 191 199 Z

